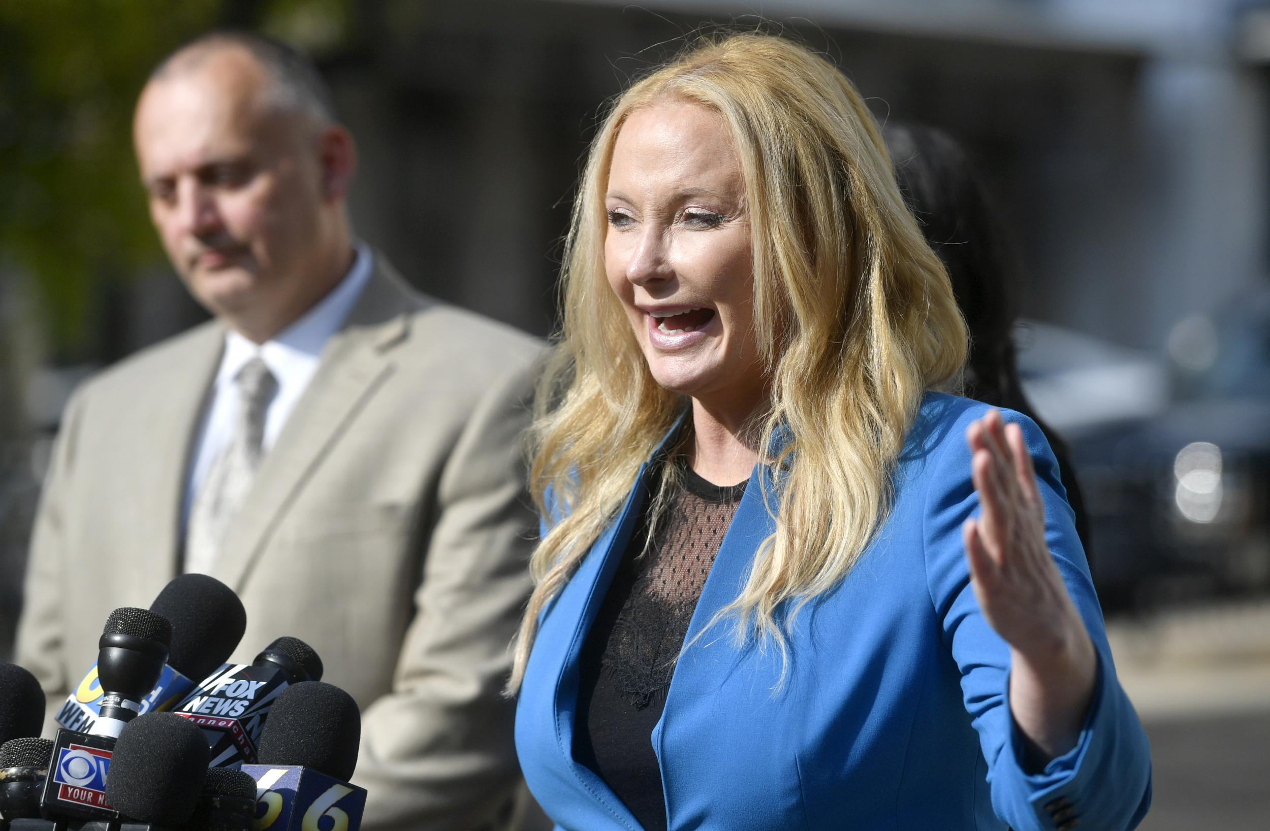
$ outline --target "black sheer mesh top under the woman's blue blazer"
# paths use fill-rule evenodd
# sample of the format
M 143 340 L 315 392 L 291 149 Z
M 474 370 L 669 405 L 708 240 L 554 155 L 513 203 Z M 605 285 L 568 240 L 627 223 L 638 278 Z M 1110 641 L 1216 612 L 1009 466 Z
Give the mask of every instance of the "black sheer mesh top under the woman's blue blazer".
M 645 828 L 665 828 L 652 735 L 706 576 L 745 483 L 711 485 L 677 457 L 653 544 L 648 507 L 631 534 L 579 658 L 574 756 L 613 789 Z

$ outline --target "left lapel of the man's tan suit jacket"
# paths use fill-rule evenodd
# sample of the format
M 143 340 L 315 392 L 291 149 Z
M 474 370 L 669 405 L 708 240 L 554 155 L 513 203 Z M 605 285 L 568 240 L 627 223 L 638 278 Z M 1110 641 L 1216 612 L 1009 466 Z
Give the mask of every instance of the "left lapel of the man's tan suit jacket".
M 225 329 L 208 324 L 190 332 L 187 351 L 154 378 L 155 406 L 138 425 L 152 452 L 137 453 L 130 476 L 138 505 L 152 506 L 138 516 L 136 556 L 144 562 L 130 570 L 130 580 L 144 581 L 144 596 L 154 596 L 177 575 L 180 516 L 185 499 L 190 448 L 199 428 L 207 392 L 220 365 Z M 151 591 L 152 589 L 152 591 Z

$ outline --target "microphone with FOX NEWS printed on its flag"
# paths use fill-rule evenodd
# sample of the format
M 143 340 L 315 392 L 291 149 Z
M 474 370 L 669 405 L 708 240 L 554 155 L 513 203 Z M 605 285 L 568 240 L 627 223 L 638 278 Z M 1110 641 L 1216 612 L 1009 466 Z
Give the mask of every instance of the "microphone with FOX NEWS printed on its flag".
M 203 728 L 213 768 L 251 762 L 274 699 L 290 685 L 316 681 L 321 674 L 321 658 L 312 647 L 282 637 L 253 664 L 226 664 L 208 675 L 175 712 Z

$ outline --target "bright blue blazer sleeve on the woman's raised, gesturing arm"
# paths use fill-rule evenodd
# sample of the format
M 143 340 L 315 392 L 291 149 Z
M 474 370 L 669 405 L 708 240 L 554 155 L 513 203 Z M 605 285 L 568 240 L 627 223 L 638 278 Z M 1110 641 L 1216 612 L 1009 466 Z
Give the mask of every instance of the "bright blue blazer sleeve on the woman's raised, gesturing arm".
M 961 674 L 966 712 L 979 733 L 996 815 L 1015 831 L 1135 827 L 1151 804 L 1147 736 L 1115 675 L 1102 612 L 1072 510 L 1063 496 L 1058 463 L 1040 429 L 1003 411 L 1022 428 L 1045 504 L 1049 551 L 1097 652 L 1093 699 L 1080 738 L 1044 770 L 1022 768 L 1022 735 L 1010 713 L 1010 648 L 979 610 L 961 543 L 961 523 L 978 514 L 964 433 L 979 411 L 966 412 L 933 450 L 927 481 L 925 538 L 931 600 L 944 642 Z M 1073 823 L 1073 820 L 1080 822 Z

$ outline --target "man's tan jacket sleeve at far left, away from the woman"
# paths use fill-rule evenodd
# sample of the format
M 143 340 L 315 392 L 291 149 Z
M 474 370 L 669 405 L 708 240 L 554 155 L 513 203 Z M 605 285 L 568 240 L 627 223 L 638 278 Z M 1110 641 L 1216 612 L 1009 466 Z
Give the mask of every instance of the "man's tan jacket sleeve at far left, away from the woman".
M 65 504 L 75 474 L 84 398 L 84 388 L 71 396 L 62 412 L 61 429 L 53 440 L 27 553 L 22 615 L 14 645 L 14 658 L 30 670 L 47 695 L 46 732 L 53 726 L 51 719 L 66 700 L 71 683 L 66 677 L 66 661 L 62 656 L 65 633 L 58 575 L 65 573 L 67 562 Z

